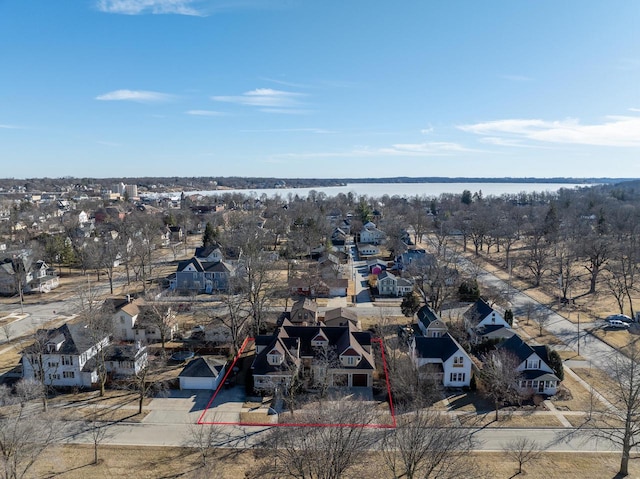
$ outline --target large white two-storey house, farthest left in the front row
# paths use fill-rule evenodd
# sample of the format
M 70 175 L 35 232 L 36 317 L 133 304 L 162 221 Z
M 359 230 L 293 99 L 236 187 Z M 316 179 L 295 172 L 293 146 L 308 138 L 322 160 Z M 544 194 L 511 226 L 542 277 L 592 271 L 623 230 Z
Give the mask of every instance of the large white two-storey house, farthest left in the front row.
M 87 323 L 66 323 L 40 331 L 42 339 L 22 355 L 25 379 L 50 386 L 91 387 L 98 382 L 94 356 L 109 345 L 109 335 L 92 331 Z

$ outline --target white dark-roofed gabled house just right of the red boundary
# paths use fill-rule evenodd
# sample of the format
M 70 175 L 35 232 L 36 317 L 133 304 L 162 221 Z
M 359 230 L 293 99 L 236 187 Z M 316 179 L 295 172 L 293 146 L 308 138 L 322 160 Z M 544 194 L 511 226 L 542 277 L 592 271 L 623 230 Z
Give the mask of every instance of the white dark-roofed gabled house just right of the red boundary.
M 411 358 L 421 373 L 435 370 L 444 387 L 469 386 L 471 358 L 449 333 L 440 337 L 415 336 L 410 348 Z

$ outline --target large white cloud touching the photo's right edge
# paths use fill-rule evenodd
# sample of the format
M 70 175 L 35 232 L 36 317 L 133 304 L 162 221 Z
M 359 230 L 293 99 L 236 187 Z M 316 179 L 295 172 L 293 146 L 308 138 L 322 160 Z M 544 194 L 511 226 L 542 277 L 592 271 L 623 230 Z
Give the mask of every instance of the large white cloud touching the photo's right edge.
M 576 119 L 545 121 L 532 119 L 495 120 L 461 125 L 462 131 L 491 138 L 526 139 L 545 143 L 592 146 L 640 146 L 640 116 L 608 116 L 600 124 L 583 125 Z M 496 143 L 496 140 L 490 140 Z

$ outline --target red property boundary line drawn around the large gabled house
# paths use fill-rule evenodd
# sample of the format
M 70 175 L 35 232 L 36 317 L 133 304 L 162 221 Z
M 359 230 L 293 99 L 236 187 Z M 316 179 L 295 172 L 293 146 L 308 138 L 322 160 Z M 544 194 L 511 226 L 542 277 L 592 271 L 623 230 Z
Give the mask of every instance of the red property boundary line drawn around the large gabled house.
M 227 379 L 227 376 L 229 376 L 231 371 L 233 371 L 233 368 L 235 367 L 236 363 L 238 362 L 238 359 L 240 358 L 240 355 L 242 354 L 242 352 L 246 348 L 246 346 L 249 343 L 249 341 L 253 341 L 253 339 L 254 338 L 247 338 L 242 343 L 242 346 L 240 347 L 240 350 L 238 351 L 238 354 L 234 358 L 233 363 L 231 363 L 231 367 L 229 368 L 229 370 L 224 375 L 224 378 L 222 378 L 222 381 L 220 382 L 220 384 L 218 384 L 218 387 L 215 390 L 215 392 L 213 393 L 213 396 L 211 396 L 211 399 L 207 403 L 207 406 L 205 407 L 204 411 L 202 412 L 202 414 L 198 418 L 197 424 L 199 424 L 199 425 L 224 425 L 224 426 L 255 426 L 255 427 L 362 427 L 362 428 L 372 428 L 372 429 L 394 429 L 396 427 L 396 425 L 397 425 L 396 414 L 395 414 L 395 409 L 393 407 L 393 397 L 391 395 L 391 384 L 389 382 L 389 371 L 387 369 L 387 358 L 386 358 L 385 353 L 384 353 L 384 345 L 382 343 L 382 339 L 380 339 L 380 338 L 374 338 L 373 341 L 377 342 L 380 345 L 380 351 L 381 351 L 381 356 L 382 356 L 382 366 L 383 366 L 383 370 L 384 370 L 385 381 L 387 383 L 387 394 L 389 396 L 389 411 L 391 412 L 391 419 L 392 419 L 392 423 L 391 424 L 359 424 L 359 423 L 356 423 L 356 424 L 349 424 L 349 423 L 336 423 L 336 424 L 333 424 L 333 423 L 277 423 L 277 424 L 273 424 L 273 423 L 255 423 L 255 422 L 242 422 L 242 421 L 240 421 L 240 422 L 235 422 L 235 421 L 234 422 L 228 422 L 228 421 L 204 421 L 204 416 L 207 414 L 207 412 L 209 411 L 211 405 L 213 404 L 213 401 L 215 401 L 216 397 L 218 396 L 218 393 L 220 392 L 220 390 L 224 386 L 224 383 L 225 383 L 225 381 Z

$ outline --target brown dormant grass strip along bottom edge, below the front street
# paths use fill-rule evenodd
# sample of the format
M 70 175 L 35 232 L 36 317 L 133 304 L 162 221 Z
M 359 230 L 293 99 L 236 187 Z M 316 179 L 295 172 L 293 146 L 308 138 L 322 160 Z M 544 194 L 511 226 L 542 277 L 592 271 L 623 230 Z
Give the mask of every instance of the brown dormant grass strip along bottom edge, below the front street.
M 266 454 L 268 459 L 268 453 Z M 242 479 L 250 477 L 257 459 L 253 451 L 220 450 L 213 459 L 214 473 L 198 474 L 198 455 L 185 448 L 100 446 L 99 462 L 93 465 L 92 446 L 59 446 L 49 449 L 29 477 L 34 479 L 110 479 L 136 477 L 154 478 L 216 478 Z M 524 466 L 523 474 L 515 476 L 517 465 L 505 460 L 500 452 L 475 453 L 478 476 L 491 479 L 613 479 L 619 465 L 617 454 L 545 453 L 535 462 Z M 640 477 L 640 461 L 633 459 L 629 478 Z M 375 453 L 363 455 L 345 478 L 371 477 L 386 479 L 393 476 Z M 470 478 L 471 479 L 471 478 Z

